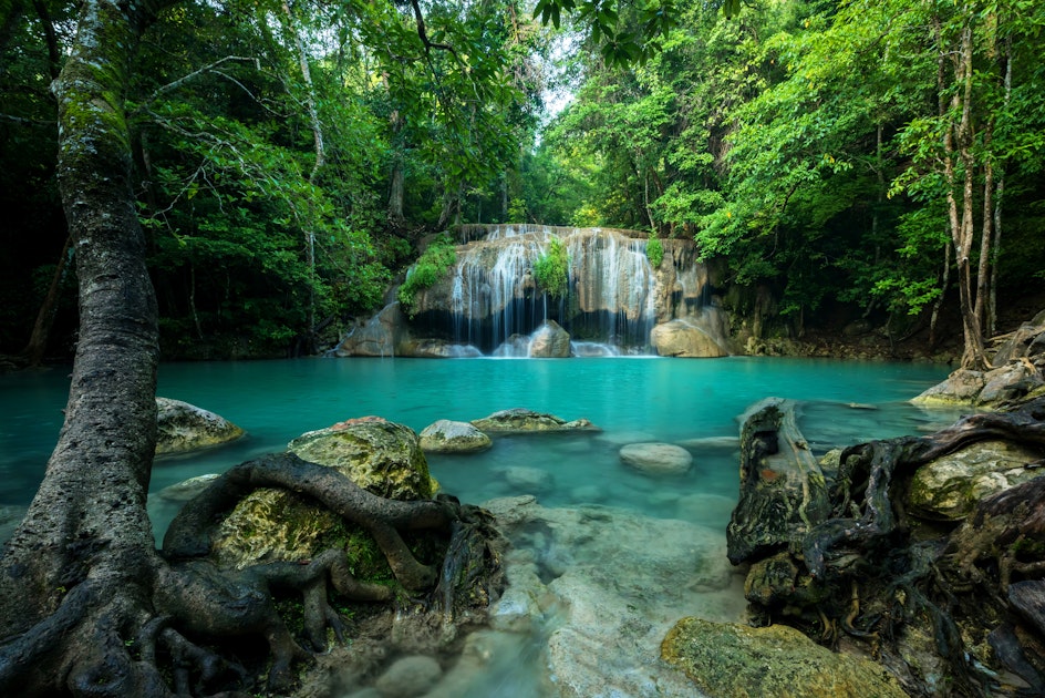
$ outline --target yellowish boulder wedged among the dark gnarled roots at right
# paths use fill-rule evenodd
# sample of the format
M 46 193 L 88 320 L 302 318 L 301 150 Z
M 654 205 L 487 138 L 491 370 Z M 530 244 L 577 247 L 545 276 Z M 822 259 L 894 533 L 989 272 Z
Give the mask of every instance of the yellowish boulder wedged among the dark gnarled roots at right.
M 1038 478 L 1038 450 L 1007 441 L 980 441 L 918 469 L 907 505 L 927 519 L 960 521 L 975 512 L 981 500 Z

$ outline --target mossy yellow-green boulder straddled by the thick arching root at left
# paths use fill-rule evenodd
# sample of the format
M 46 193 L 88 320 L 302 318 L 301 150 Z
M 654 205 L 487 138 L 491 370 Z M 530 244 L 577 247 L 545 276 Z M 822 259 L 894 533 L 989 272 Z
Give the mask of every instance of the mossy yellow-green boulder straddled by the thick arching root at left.
M 361 487 L 393 500 L 423 500 L 433 482 L 421 443 L 410 428 L 379 417 L 340 422 L 290 442 L 300 458 L 334 468 Z M 329 547 L 345 550 L 363 578 L 387 574 L 380 548 L 361 528 L 282 489 L 259 489 L 221 523 L 213 545 L 220 566 L 307 560 Z

